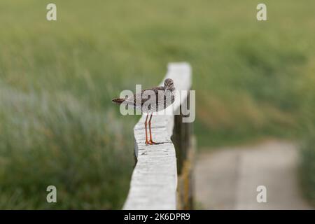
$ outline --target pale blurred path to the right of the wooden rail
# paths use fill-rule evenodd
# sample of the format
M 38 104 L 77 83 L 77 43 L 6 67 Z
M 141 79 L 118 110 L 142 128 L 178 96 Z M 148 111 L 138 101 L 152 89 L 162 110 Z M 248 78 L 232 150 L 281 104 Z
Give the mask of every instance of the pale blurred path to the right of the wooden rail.
M 196 201 L 202 209 L 311 209 L 298 188 L 297 153 L 284 141 L 200 153 Z M 267 188 L 266 203 L 256 201 L 257 186 Z

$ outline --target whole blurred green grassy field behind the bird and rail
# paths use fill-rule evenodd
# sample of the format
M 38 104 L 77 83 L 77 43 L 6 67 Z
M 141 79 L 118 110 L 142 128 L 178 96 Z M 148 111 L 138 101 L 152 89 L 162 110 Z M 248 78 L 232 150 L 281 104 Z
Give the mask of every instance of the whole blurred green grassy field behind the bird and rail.
M 48 3 L 0 1 L 1 209 L 119 209 L 137 117 L 111 99 L 168 62 L 193 66 L 199 146 L 314 127 L 315 1 L 264 1 L 266 22 L 251 0 Z

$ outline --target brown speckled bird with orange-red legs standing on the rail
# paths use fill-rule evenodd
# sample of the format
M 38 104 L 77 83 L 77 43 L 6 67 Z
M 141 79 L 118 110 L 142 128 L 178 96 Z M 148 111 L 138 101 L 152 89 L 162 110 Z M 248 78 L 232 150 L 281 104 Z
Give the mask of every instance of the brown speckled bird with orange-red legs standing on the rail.
M 144 128 L 146 130 L 146 145 L 157 145 L 162 144 L 162 142 L 158 143 L 153 141 L 152 132 L 151 132 L 151 120 L 154 112 L 162 111 L 166 109 L 168 106 L 171 106 L 175 101 L 175 86 L 172 78 L 166 78 L 164 81 L 164 86 L 151 87 L 150 89 L 142 90 L 141 92 L 134 94 L 125 99 L 116 98 L 112 99 L 112 102 L 116 104 L 127 104 L 133 106 L 134 109 L 141 111 L 141 113 L 146 114 L 146 121 L 144 122 Z M 155 96 L 155 101 L 148 100 L 151 99 L 151 94 L 153 97 Z M 161 97 L 162 94 L 162 97 Z M 161 99 L 162 98 L 162 99 Z M 150 118 L 148 120 L 148 116 Z M 150 138 L 148 139 L 149 130 Z

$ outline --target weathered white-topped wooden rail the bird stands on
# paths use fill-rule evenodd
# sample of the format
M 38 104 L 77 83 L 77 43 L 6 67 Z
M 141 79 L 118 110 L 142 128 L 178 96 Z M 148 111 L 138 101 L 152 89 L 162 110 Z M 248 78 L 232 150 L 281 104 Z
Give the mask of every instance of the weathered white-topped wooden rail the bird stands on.
M 192 209 L 193 154 L 195 141 L 192 123 L 183 123 L 181 105 L 189 102 L 192 84 L 188 63 L 170 63 L 165 78 L 172 78 L 176 90 L 186 90 L 186 97 L 177 97 L 175 114 L 153 116 L 152 131 L 157 142 L 145 145 L 145 116 L 134 127 L 134 167 L 130 191 L 123 209 Z M 164 79 L 163 79 L 164 81 Z M 161 85 L 163 85 L 163 81 Z M 177 159 L 176 159 L 177 158 Z

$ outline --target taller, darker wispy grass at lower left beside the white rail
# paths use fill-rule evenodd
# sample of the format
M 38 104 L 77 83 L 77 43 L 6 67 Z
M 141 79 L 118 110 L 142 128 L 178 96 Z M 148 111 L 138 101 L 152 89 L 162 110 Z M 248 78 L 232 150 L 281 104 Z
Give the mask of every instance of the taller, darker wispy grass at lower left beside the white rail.
M 132 138 L 113 111 L 62 92 L 25 94 L 3 85 L 0 92 L 1 209 L 120 208 Z M 45 202 L 50 185 L 57 204 Z

